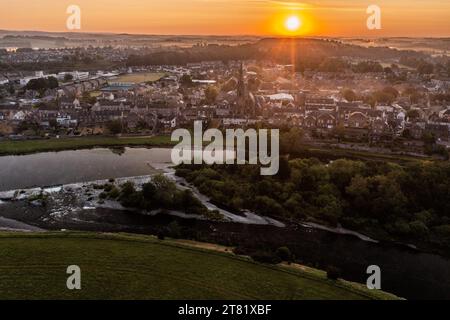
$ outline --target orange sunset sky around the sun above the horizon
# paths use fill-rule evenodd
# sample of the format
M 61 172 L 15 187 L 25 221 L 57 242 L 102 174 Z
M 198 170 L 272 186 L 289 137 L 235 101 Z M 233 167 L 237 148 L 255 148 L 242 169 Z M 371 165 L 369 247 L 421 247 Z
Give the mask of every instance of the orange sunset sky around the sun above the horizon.
M 82 32 L 203 35 L 450 36 L 450 0 L 0 0 L 0 29 L 68 31 L 66 9 L 81 8 Z M 366 9 L 382 9 L 382 29 Z

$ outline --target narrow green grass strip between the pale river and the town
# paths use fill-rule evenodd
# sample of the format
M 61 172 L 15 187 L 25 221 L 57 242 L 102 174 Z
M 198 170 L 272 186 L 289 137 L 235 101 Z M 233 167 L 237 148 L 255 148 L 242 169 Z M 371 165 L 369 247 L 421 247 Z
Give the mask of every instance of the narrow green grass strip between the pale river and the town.
M 169 136 L 154 137 L 81 137 L 0 142 L 0 155 L 89 149 L 95 147 L 173 146 Z

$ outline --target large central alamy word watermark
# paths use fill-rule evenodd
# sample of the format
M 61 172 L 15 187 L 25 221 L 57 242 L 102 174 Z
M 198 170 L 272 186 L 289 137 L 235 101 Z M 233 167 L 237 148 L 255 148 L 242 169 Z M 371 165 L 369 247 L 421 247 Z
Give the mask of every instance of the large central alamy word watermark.
M 276 175 L 279 170 L 280 133 L 278 129 L 259 129 L 258 131 L 227 129 L 224 136 L 218 129 L 208 129 L 203 132 L 202 122 L 195 121 L 194 137 L 187 129 L 177 129 L 172 132 L 172 141 L 180 141 L 172 149 L 171 157 L 175 165 L 260 164 L 260 172 L 263 176 Z M 205 142 L 210 143 L 204 147 Z

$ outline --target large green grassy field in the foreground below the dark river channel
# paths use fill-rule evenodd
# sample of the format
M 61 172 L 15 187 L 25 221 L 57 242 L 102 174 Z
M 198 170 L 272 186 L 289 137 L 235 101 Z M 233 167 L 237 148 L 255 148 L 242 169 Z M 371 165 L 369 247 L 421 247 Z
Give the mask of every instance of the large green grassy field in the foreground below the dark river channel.
M 212 250 L 211 250 L 212 249 Z M 0 299 L 393 299 L 208 244 L 94 233 L 0 233 Z M 66 288 L 81 268 L 82 289 Z

